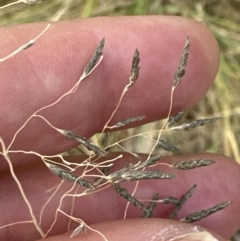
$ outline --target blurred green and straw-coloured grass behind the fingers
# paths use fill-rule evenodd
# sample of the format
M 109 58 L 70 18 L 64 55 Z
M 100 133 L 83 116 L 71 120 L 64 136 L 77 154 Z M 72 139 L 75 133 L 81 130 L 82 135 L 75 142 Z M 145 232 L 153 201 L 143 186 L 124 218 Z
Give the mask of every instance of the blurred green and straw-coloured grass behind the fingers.
M 12 2 L 0 0 L 0 6 Z M 169 141 L 174 139 L 174 144 L 184 153 L 217 152 L 240 163 L 240 0 L 43 0 L 37 5 L 19 3 L 1 9 L 0 25 L 109 15 L 178 15 L 203 21 L 209 26 L 220 47 L 219 73 L 206 98 L 188 111 L 183 121 L 214 116 L 223 118 L 210 127 L 184 131 L 177 136 L 170 132 L 167 138 Z M 159 129 L 159 126 L 161 122 L 114 132 L 105 135 L 102 144 L 106 139 L 113 143 L 126 136 Z M 130 139 L 122 146 L 134 152 L 147 152 L 150 148 L 143 138 Z M 69 154 L 76 154 L 76 150 Z

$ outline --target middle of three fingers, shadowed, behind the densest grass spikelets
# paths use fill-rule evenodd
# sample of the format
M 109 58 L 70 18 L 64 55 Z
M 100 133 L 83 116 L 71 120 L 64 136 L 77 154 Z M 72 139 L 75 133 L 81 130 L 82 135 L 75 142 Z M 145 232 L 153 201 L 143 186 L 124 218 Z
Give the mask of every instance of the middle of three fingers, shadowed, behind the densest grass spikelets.
M 193 193 L 192 197 L 187 200 L 176 218 L 182 219 L 190 213 L 202 209 L 208 209 L 216 204 L 230 200 L 233 203 L 229 207 L 197 222 L 197 224 L 220 234 L 224 238 L 230 238 L 239 228 L 240 222 L 240 217 L 238 215 L 240 211 L 240 167 L 229 158 L 212 154 L 179 156 L 174 158 L 166 157 L 162 161 L 164 163 L 172 163 L 190 158 L 212 158 L 216 160 L 217 163 L 209 167 L 202 167 L 188 171 L 180 171 L 164 165 L 159 165 L 153 169 L 159 168 L 163 172 L 173 173 L 176 175 L 176 178 L 161 181 L 140 181 L 134 196 L 139 200 L 149 200 L 152 199 L 156 193 L 159 193 L 160 199 L 169 196 L 180 198 L 193 186 L 193 184 L 197 184 L 196 191 Z M 119 170 L 119 168 L 126 166 L 127 163 L 134 162 L 136 162 L 135 158 L 129 155 L 124 155 L 123 159 L 116 161 L 111 171 Z M 82 173 L 83 170 L 79 170 L 79 174 Z M 48 198 L 53 194 L 53 190 L 51 192 L 46 191 L 59 184 L 59 179 L 58 177 L 51 175 L 49 170 L 40 163 L 32 163 L 30 166 L 23 166 L 22 169 L 18 170 L 17 175 L 30 203 L 33 205 L 33 210 L 39 219 L 40 210 L 47 202 Z M 1 190 L 4 191 L 0 194 L 0 209 L 2 210 L 2 223 L 0 226 L 17 221 L 30 220 L 31 217 L 29 216 L 29 211 L 17 190 L 12 177 L 7 173 L 5 175 L 1 174 L 1 177 Z M 135 184 L 135 182 L 126 182 L 120 183 L 120 186 L 126 188 L 131 194 L 135 188 Z M 49 230 L 49 227 L 54 221 L 55 211 L 59 207 L 61 197 L 72 187 L 72 185 L 72 183 L 65 182 L 54 198 L 45 207 L 42 217 L 42 227 L 45 232 Z M 84 190 L 84 188 L 79 188 L 77 193 L 81 194 Z M 72 191 L 72 193 L 74 193 L 74 191 Z M 73 207 L 72 201 L 72 197 L 65 197 L 62 200 L 61 210 L 66 214 L 71 215 L 71 208 Z M 148 204 L 149 202 L 144 203 Z M 90 225 L 104 221 L 122 219 L 124 217 L 126 205 L 127 201 L 120 197 L 112 187 L 109 187 L 91 193 L 91 195 L 77 197 L 74 200 L 72 215 L 82 219 Z M 19 206 L 21 206 L 20 210 Z M 154 211 L 154 217 L 167 218 L 173 208 L 173 205 L 158 203 Z M 142 216 L 142 214 L 142 210 L 133 205 L 130 205 L 127 210 L 127 218 L 137 218 Z M 228 225 L 226 225 L 226 223 Z M 66 232 L 68 230 L 68 224 L 69 219 L 64 214 L 58 213 L 57 221 L 49 235 Z M 70 226 L 71 229 L 76 228 L 76 225 L 76 223 L 72 222 Z M 25 233 L 22 232 L 23 229 L 27 229 L 28 233 L 33 235 L 32 237 L 29 236 L 30 240 L 39 238 L 39 235 L 32 224 L 11 226 L 2 229 L 1 232 L 3 237 L 4 235 L 6 237 L 11 237 L 12 233 L 16 233 L 19 236 L 18 240 L 27 241 L 26 238 L 24 239 Z

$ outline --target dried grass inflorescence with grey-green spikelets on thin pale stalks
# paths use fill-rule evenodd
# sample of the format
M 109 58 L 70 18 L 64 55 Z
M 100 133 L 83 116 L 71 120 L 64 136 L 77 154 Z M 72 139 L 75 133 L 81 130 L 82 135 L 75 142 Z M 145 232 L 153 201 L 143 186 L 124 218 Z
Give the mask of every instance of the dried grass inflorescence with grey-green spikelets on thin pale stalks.
M 40 1 L 17 1 L 16 3 L 19 2 L 24 2 L 24 3 L 30 3 L 30 4 L 36 4 L 39 3 Z M 40 33 L 34 40 L 29 41 L 25 45 L 19 47 L 16 51 L 13 53 L 9 54 L 5 58 L 1 59 L 1 62 L 7 61 L 9 58 L 14 57 L 17 53 L 26 50 L 29 47 L 32 47 L 36 40 L 42 36 L 42 34 L 47 31 L 47 29 L 50 27 L 50 25 L 47 25 L 47 27 L 43 30 L 42 33 Z M 149 153 L 148 157 L 145 160 L 138 160 L 139 155 L 137 153 L 132 153 L 130 152 L 133 156 L 136 157 L 136 163 L 135 164 L 128 164 L 127 166 L 117 170 L 117 171 L 111 171 L 111 167 L 114 165 L 114 161 L 116 159 L 122 158 L 122 155 L 118 156 L 116 159 L 110 159 L 104 162 L 97 162 L 97 160 L 100 157 L 104 157 L 105 159 L 108 158 L 109 152 L 107 151 L 109 146 L 106 146 L 104 148 L 100 148 L 98 145 L 93 144 L 88 138 L 81 136 L 80 134 L 76 134 L 73 131 L 70 130 L 62 130 L 58 129 L 57 127 L 54 127 L 51 123 L 48 122 L 48 120 L 45 119 L 44 116 L 40 115 L 39 112 L 43 109 L 47 109 L 49 107 L 54 106 L 56 103 L 60 102 L 65 96 L 74 94 L 76 89 L 78 88 L 79 84 L 85 80 L 94 70 L 95 68 L 101 63 L 103 59 L 103 48 L 105 44 L 105 39 L 103 39 L 99 46 L 96 48 L 95 52 L 93 53 L 92 58 L 88 61 L 86 64 L 86 67 L 84 68 L 82 76 L 79 78 L 79 80 L 76 82 L 76 84 L 71 88 L 70 91 L 66 92 L 64 95 L 60 96 L 56 101 L 53 103 L 49 104 L 48 106 L 43 106 L 39 110 L 37 110 L 35 113 L 33 113 L 26 121 L 25 123 L 19 128 L 19 130 L 15 133 L 14 137 L 12 138 L 12 141 L 8 146 L 5 146 L 4 140 L 0 138 L 0 142 L 2 144 L 2 152 L 1 155 L 5 157 L 5 160 L 7 161 L 9 165 L 9 169 L 11 172 L 11 175 L 13 179 L 15 180 L 16 184 L 18 185 L 19 190 L 21 191 L 22 197 L 28 206 L 29 213 L 31 215 L 32 220 L 28 222 L 32 222 L 36 230 L 39 232 L 42 238 L 45 238 L 48 236 L 49 232 L 51 231 L 52 227 L 54 226 L 55 222 L 51 225 L 48 231 L 43 231 L 41 221 L 38 221 L 36 218 L 36 215 L 33 211 L 33 208 L 31 206 L 31 203 L 29 202 L 27 196 L 25 195 L 24 189 L 21 185 L 21 182 L 19 181 L 18 177 L 15 174 L 14 167 L 12 165 L 11 159 L 9 157 L 9 153 L 14 152 L 14 153 L 22 153 L 24 151 L 21 150 L 12 150 L 12 144 L 15 141 L 15 138 L 17 137 L 18 133 L 24 129 L 24 127 L 28 124 L 28 122 L 31 121 L 32 118 L 42 118 L 49 126 L 51 126 L 56 132 L 61 133 L 63 136 L 66 138 L 78 142 L 80 145 L 84 146 L 87 150 L 91 152 L 89 156 L 87 156 L 86 160 L 82 163 L 75 163 L 74 167 L 72 167 L 72 163 L 69 163 L 67 160 L 65 160 L 64 156 L 62 155 L 53 155 L 53 156 L 44 156 L 39 153 L 35 153 L 37 156 L 41 157 L 41 160 L 45 163 L 46 168 L 49 169 L 49 175 L 54 174 L 58 176 L 60 179 L 63 181 L 67 182 L 72 182 L 73 186 L 71 189 L 66 192 L 64 196 L 62 196 L 61 200 L 64 199 L 65 196 L 69 195 L 71 191 L 74 189 L 75 185 L 80 185 L 81 187 L 84 187 L 85 191 L 83 193 L 75 193 L 72 194 L 73 198 L 75 197 L 81 197 L 84 195 L 91 195 L 91 193 L 96 192 L 96 191 L 101 191 L 102 188 L 113 188 L 122 198 L 126 199 L 128 204 L 134 205 L 136 208 L 139 208 L 142 210 L 143 214 L 142 217 L 144 218 L 150 218 L 154 214 L 154 209 L 155 207 L 159 204 L 172 204 L 173 210 L 169 216 L 169 218 L 175 218 L 178 211 L 182 208 L 183 205 L 186 205 L 186 201 L 194 194 L 195 191 L 197 191 L 197 185 L 194 184 L 192 188 L 184 194 L 182 197 L 163 197 L 160 199 L 159 193 L 156 193 L 149 204 L 145 204 L 143 201 L 138 200 L 135 196 L 134 193 L 129 193 L 129 191 L 126 188 L 123 188 L 120 186 L 119 183 L 122 182 L 132 182 L 135 181 L 137 184 L 135 186 L 135 190 L 138 187 L 139 181 L 142 180 L 149 180 L 149 179 L 156 179 L 157 181 L 161 181 L 164 179 L 173 179 L 176 177 L 176 175 L 172 173 L 166 173 L 161 171 L 161 165 L 164 163 L 162 162 L 162 154 L 156 154 L 154 153 L 156 147 L 161 147 L 167 152 L 172 152 L 175 155 L 180 155 L 182 152 L 179 148 L 175 147 L 172 143 L 165 141 L 162 139 L 163 131 L 166 133 L 167 131 L 173 131 L 173 130 L 190 130 L 192 128 L 206 125 L 209 123 L 212 123 L 216 121 L 218 118 L 212 118 L 212 119 L 199 119 L 195 120 L 190 123 L 184 123 L 177 125 L 177 123 L 180 121 L 181 117 L 184 115 L 184 112 L 181 111 L 175 116 L 171 116 L 171 108 L 172 108 L 172 99 L 173 99 L 173 93 L 174 90 L 177 88 L 179 84 L 181 84 L 182 78 L 185 74 L 185 70 L 187 67 L 187 61 L 188 61 L 188 56 L 189 56 L 189 51 L 190 51 L 190 38 L 187 37 L 183 55 L 180 60 L 180 65 L 177 69 L 176 74 L 174 75 L 173 79 L 173 84 L 172 84 L 172 93 L 170 96 L 171 99 L 171 104 L 169 106 L 169 114 L 168 118 L 163 124 L 162 129 L 158 132 L 158 137 L 157 138 L 152 138 L 151 141 L 154 142 L 154 146 Z M 127 91 L 130 91 L 131 88 L 134 87 L 134 84 L 136 84 L 136 81 L 139 76 L 139 71 L 140 71 L 140 53 L 136 49 L 134 54 L 133 54 L 133 59 L 132 59 L 132 65 L 131 65 L 131 70 L 130 70 L 130 77 L 129 77 L 129 83 L 126 84 L 124 87 L 122 94 L 119 98 L 118 103 L 116 104 L 116 108 L 113 110 L 112 115 L 109 117 L 108 121 L 106 122 L 105 126 L 102 129 L 102 132 L 100 133 L 100 136 L 103 134 L 104 131 L 107 129 L 114 129 L 114 128 L 119 128 L 119 127 L 125 127 L 128 124 L 131 123 L 136 123 L 145 118 L 145 116 L 133 116 L 129 117 L 124 120 L 119 120 L 116 124 L 109 126 L 109 123 L 113 119 L 113 116 L 117 112 L 122 99 L 124 98 L 124 95 Z M 144 136 L 144 133 L 142 133 L 142 136 Z M 131 138 L 131 137 L 129 137 Z M 118 145 L 119 142 L 116 142 L 115 145 Z M 112 144 L 114 146 L 114 144 Z M 24 152 L 28 154 L 28 152 Z M 32 153 L 31 153 L 32 154 Z M 53 161 L 53 158 L 59 158 L 60 161 L 62 162 L 61 164 L 55 163 Z M 214 164 L 214 160 L 210 159 L 191 159 L 191 160 L 181 160 L 177 163 L 174 163 L 172 165 L 168 165 L 170 168 L 173 169 L 181 169 L 181 170 L 189 170 L 189 169 L 194 169 L 194 168 L 201 168 L 204 166 L 209 166 Z M 76 174 L 76 170 L 78 167 L 83 166 L 85 167 L 85 172 L 82 173 L 81 176 Z M 151 167 L 151 170 L 148 169 L 148 167 Z M 95 179 L 93 181 L 88 180 L 87 176 L 87 171 L 88 170 L 96 170 L 99 175 L 95 175 Z M 61 182 L 62 183 L 62 182 Z M 60 187 L 60 186 L 59 186 Z M 54 195 L 54 194 L 53 194 Z M 47 203 L 43 206 L 41 210 L 41 216 L 44 211 L 45 206 L 48 204 L 50 200 L 47 201 Z M 181 219 L 181 221 L 184 222 L 194 222 L 194 221 L 199 221 L 209 215 L 211 215 L 214 212 L 220 211 L 224 208 L 226 208 L 228 205 L 230 205 L 230 201 L 226 201 L 224 203 L 220 203 L 215 205 L 214 207 L 210 207 L 209 209 L 206 210 L 201 210 L 197 211 L 194 213 L 189 214 L 187 217 Z M 107 205 L 107 204 L 106 204 Z M 128 206 L 126 207 L 127 211 Z M 74 217 L 73 215 L 66 214 L 63 210 L 61 210 L 61 206 L 56 210 L 56 213 L 61 212 L 63 215 L 67 216 L 71 221 L 79 223 L 78 227 L 73 231 L 71 237 L 77 235 L 82 229 L 84 230 L 92 230 L 94 232 L 98 232 L 96 230 L 91 229 L 90 227 L 87 226 L 86 223 L 84 223 L 83 220 L 79 219 L 78 217 Z M 21 222 L 19 222 L 21 223 Z M 13 224 L 7 224 L 6 226 L 9 225 L 17 225 L 19 223 L 13 223 Z M 4 228 L 4 227 L 0 227 Z M 99 233 L 104 240 L 106 238 L 104 237 L 103 234 Z

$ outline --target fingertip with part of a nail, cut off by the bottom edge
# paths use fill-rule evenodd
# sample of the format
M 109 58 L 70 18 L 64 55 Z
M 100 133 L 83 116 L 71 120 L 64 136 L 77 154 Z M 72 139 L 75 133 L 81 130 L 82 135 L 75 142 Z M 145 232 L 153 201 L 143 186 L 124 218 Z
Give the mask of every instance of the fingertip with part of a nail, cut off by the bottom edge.
M 200 226 L 179 223 L 168 219 L 129 219 L 92 225 L 93 230 L 82 231 L 75 240 L 176 240 L 176 241 L 224 241 L 216 234 L 209 233 Z M 46 241 L 67 241 L 71 233 L 54 236 Z M 217 238 L 217 239 L 216 239 Z

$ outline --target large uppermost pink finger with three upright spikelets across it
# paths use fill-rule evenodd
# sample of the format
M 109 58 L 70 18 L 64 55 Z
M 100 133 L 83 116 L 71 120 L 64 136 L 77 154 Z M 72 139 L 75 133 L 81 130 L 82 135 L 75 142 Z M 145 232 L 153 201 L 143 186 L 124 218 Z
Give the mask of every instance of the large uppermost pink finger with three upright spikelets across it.
M 2 28 L 1 56 L 36 37 L 46 24 Z M 1 136 L 8 145 L 34 111 L 66 93 L 79 79 L 100 40 L 104 60 L 79 89 L 41 114 L 53 126 L 90 137 L 100 132 L 128 83 L 135 48 L 140 51 L 137 83 L 124 97 L 112 124 L 132 116 L 145 121 L 165 117 L 173 76 L 186 37 L 191 39 L 186 76 L 174 93 L 173 113 L 190 108 L 207 92 L 216 75 L 216 40 L 202 23 L 178 17 L 95 18 L 54 23 L 31 48 L 1 63 Z M 8 94 L 12 93 L 12 94 Z M 55 144 L 53 144 L 55 143 Z M 59 153 L 76 145 L 34 118 L 17 136 L 12 149 Z M 24 160 L 26 157 L 24 156 Z M 18 155 L 18 162 L 23 157 Z

